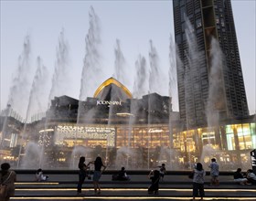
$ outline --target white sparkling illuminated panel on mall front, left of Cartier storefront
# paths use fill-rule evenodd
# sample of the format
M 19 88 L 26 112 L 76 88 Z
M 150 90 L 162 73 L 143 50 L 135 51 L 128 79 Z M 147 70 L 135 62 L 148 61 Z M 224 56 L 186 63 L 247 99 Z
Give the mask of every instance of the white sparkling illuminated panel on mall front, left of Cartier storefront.
M 106 140 L 108 146 L 114 146 L 115 129 L 111 127 L 86 127 L 59 125 L 55 131 L 55 143 L 61 144 L 64 139 Z

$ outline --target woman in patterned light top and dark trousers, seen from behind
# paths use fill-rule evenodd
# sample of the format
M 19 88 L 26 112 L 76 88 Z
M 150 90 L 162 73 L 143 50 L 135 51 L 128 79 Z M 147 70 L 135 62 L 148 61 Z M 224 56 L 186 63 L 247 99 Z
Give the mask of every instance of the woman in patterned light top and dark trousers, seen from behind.
M 205 176 L 206 172 L 203 169 L 203 165 L 201 163 L 197 163 L 193 176 L 193 200 L 196 200 L 196 196 L 198 196 L 198 191 L 199 196 L 201 197 L 200 200 L 203 200 L 205 196 Z

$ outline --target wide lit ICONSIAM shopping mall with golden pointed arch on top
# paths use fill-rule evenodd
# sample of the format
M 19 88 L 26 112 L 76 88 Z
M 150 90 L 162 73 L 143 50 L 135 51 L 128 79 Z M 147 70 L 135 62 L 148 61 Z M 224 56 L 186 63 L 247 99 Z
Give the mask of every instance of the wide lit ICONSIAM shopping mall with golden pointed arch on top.
M 69 168 L 80 155 L 87 161 L 101 155 L 110 169 L 165 163 L 181 170 L 197 161 L 208 164 L 211 157 L 218 158 L 222 169 L 248 168 L 256 148 L 255 115 L 187 131 L 179 113 L 172 111 L 170 97 L 151 93 L 133 99 L 113 78 L 85 101 L 55 97 L 45 117 L 31 123 L 2 115 L 1 131 L 2 161 L 21 165 L 33 142 L 43 150 L 44 168 Z

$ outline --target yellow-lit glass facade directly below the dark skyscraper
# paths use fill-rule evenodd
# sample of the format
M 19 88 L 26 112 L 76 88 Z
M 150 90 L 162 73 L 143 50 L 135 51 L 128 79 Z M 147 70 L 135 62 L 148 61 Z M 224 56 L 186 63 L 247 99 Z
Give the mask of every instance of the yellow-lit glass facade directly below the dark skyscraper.
M 256 148 L 255 123 L 228 124 L 217 128 L 198 128 L 173 135 L 173 147 L 183 155 L 179 161 L 208 164 L 212 157 L 219 159 L 221 168 L 237 164 L 250 168 L 250 151 Z M 187 159 L 186 159 L 187 158 Z

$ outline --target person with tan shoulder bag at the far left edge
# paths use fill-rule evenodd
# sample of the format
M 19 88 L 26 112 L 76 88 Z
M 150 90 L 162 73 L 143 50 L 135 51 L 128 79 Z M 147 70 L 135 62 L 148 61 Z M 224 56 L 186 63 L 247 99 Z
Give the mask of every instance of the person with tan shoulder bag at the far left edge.
M 9 170 L 10 167 L 8 163 L 1 164 L 0 182 L 1 185 L 6 185 L 6 194 L 5 197 L 0 197 L 1 201 L 8 201 L 11 196 L 15 196 L 16 172 Z

